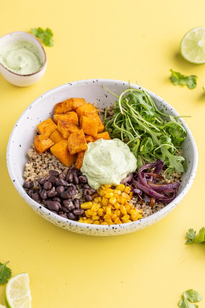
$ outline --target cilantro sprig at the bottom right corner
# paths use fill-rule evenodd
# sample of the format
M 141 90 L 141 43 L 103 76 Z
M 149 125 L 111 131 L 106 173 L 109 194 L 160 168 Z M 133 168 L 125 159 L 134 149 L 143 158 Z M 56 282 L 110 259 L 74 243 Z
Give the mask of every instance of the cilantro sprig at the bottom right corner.
M 201 300 L 202 296 L 198 291 L 189 289 L 183 293 L 182 300 L 179 302 L 179 308 L 198 308 L 198 305 L 192 303 L 200 302 Z

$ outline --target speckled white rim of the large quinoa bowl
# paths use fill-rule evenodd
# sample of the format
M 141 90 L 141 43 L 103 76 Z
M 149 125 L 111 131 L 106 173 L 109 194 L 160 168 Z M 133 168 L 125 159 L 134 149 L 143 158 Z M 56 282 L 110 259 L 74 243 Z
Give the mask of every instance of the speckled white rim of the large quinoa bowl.
M 46 97 L 46 96 L 49 96 L 50 94 L 52 94 L 53 92 L 59 90 L 59 89 L 63 89 L 63 88 L 66 88 L 68 86 L 68 84 L 76 84 L 78 85 L 78 83 L 91 83 L 93 84 L 94 81 L 98 81 L 99 83 L 105 83 L 105 82 L 111 82 L 111 83 L 121 83 L 123 85 L 131 85 L 131 87 L 133 88 L 136 88 L 136 89 L 139 89 L 139 88 L 143 88 L 145 91 L 148 92 L 148 94 L 153 98 L 157 98 L 158 100 L 160 100 L 161 102 L 163 103 L 166 103 L 166 106 L 169 108 L 169 110 L 171 110 L 174 115 L 179 115 L 179 113 L 167 102 L 165 101 L 164 99 L 162 99 L 159 95 L 153 93 L 152 91 L 144 88 L 144 87 L 141 87 L 141 86 L 138 86 L 134 83 L 129 83 L 127 81 L 123 81 L 123 80 L 118 80 L 118 79 L 101 79 L 101 78 L 95 78 L 95 79 L 82 79 L 82 80 L 76 80 L 76 81 L 73 81 L 73 82 L 69 82 L 69 83 L 65 83 L 65 84 L 62 84 L 62 85 L 59 85 L 57 87 L 54 87 L 48 91 L 46 91 L 45 93 L 43 93 L 42 95 L 38 96 L 23 112 L 22 114 L 20 115 L 20 117 L 18 118 L 18 120 L 16 121 L 12 131 L 11 131 L 11 134 L 10 134 L 10 137 L 9 137 L 9 140 L 8 140 L 8 144 L 7 144 L 7 151 L 6 151 L 6 162 L 7 162 L 7 168 L 8 168 L 8 172 L 9 172 L 9 175 L 10 175 L 10 178 L 11 180 L 12 179 L 17 179 L 17 180 L 13 180 L 13 184 L 14 184 L 14 187 L 16 188 L 17 192 L 21 195 L 21 197 L 26 201 L 26 203 L 28 204 L 32 204 L 36 209 L 40 209 L 41 212 L 45 213 L 47 216 L 49 215 L 50 217 L 53 217 L 56 221 L 61 221 L 62 223 L 64 223 L 65 225 L 73 225 L 75 227 L 81 227 L 81 229 L 87 229 L 88 228 L 88 224 L 84 224 L 84 223 L 81 223 L 81 222 L 78 222 L 78 221 L 72 221 L 72 220 L 69 220 L 68 218 L 64 218 L 64 217 L 61 217 L 51 211 L 49 211 L 48 209 L 46 209 L 43 205 L 40 205 L 38 204 L 36 201 L 34 201 L 33 199 L 31 199 L 27 194 L 25 194 L 25 189 L 23 188 L 23 186 L 21 184 L 19 184 L 18 182 L 18 178 L 17 176 L 15 176 L 14 174 L 14 171 L 13 169 L 11 168 L 11 159 L 10 159 L 10 151 L 11 151 L 11 147 L 12 147 L 12 136 L 15 132 L 15 130 L 18 129 L 18 123 L 22 120 L 22 118 L 26 115 L 27 111 L 30 110 L 30 108 L 32 107 L 32 109 L 35 107 L 36 104 L 38 104 L 38 101 L 41 100 L 43 97 Z M 114 102 L 114 100 L 113 100 Z M 193 184 L 193 180 L 195 178 L 195 174 L 196 174 L 196 171 L 197 171 L 197 167 L 198 167 L 198 150 L 197 150 L 197 146 L 196 146 L 196 143 L 195 143 L 195 140 L 194 140 L 194 137 L 189 129 L 189 127 L 187 126 L 186 122 L 183 120 L 183 118 L 180 118 L 179 117 L 179 120 L 182 122 L 182 125 L 186 127 L 186 130 L 187 132 L 189 133 L 189 137 L 191 139 L 191 144 L 193 144 L 193 148 L 194 148 L 194 153 L 193 153 L 193 156 L 194 156 L 194 162 L 191 166 L 191 173 L 190 173 L 190 178 L 191 180 L 188 181 L 186 183 L 186 186 L 183 188 L 183 190 L 181 191 L 181 193 L 176 196 L 176 198 L 171 202 L 169 203 L 168 205 L 166 205 L 164 208 L 160 209 L 159 211 L 157 211 L 156 213 L 153 213 L 151 215 L 149 215 L 148 217 L 144 217 L 144 218 L 141 218 L 137 221 L 132 221 L 132 222 L 129 222 L 129 223 L 126 223 L 126 224 L 118 224 L 118 225 L 94 225 L 94 224 L 89 224 L 89 229 L 95 229 L 95 230 L 108 230 L 108 229 L 112 229 L 113 226 L 114 226 L 114 229 L 129 229 L 129 227 L 131 225 L 134 225 L 134 226 L 137 226 L 137 225 L 146 225 L 149 221 L 152 221 L 151 224 L 148 224 L 147 226 L 149 225 L 152 225 L 154 222 L 157 222 L 157 221 L 160 221 L 164 216 L 161 215 L 162 217 L 158 217 L 159 216 L 159 213 L 170 213 L 172 208 L 175 208 L 175 206 L 177 206 L 179 204 L 179 202 L 183 199 L 183 196 L 186 195 L 186 193 L 188 192 L 188 190 L 191 188 L 191 185 Z M 191 177 L 192 176 L 192 177 Z M 143 228 L 143 227 L 142 227 Z M 141 228 L 141 229 L 142 229 Z M 136 229 L 137 231 L 138 229 Z

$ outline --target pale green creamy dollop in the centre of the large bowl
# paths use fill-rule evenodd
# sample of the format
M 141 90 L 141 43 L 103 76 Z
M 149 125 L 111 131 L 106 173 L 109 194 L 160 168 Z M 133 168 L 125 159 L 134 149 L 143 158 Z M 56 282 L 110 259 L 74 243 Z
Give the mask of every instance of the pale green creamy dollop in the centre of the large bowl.
M 98 139 L 89 142 L 85 151 L 81 172 L 88 184 L 98 189 L 103 184 L 118 185 L 137 168 L 136 157 L 120 139 Z

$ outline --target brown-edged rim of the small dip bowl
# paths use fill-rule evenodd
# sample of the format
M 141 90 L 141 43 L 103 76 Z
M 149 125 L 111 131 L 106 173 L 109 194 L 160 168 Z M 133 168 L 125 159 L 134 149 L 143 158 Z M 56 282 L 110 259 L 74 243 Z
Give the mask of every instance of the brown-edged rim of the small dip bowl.
M 6 68 L 1 62 L 0 62 L 0 65 L 1 65 L 1 67 L 3 67 L 6 71 L 8 71 L 8 72 L 10 72 L 10 73 L 12 73 L 12 74 L 14 74 L 14 75 L 16 75 L 16 76 L 24 76 L 24 77 L 26 77 L 26 76 L 33 76 L 33 75 L 36 75 L 37 73 L 39 73 L 40 71 L 42 71 L 43 69 L 44 69 L 44 67 L 45 67 L 45 65 L 46 65 L 46 63 L 47 63 L 47 56 L 46 56 L 46 53 L 45 53 L 45 49 L 43 48 L 43 45 L 41 44 L 41 42 L 37 39 L 37 37 L 35 36 L 35 35 L 33 35 L 32 33 L 29 33 L 29 32 L 26 32 L 26 31 L 14 31 L 14 32 L 10 32 L 10 33 L 7 33 L 7 34 L 5 34 L 5 35 L 3 35 L 3 36 L 1 36 L 0 37 L 0 40 L 1 39 L 4 39 L 6 36 L 9 36 L 9 35 L 11 35 L 11 34 L 26 34 L 26 35 L 28 35 L 28 36 L 31 36 L 31 37 L 33 37 L 33 39 L 38 43 L 38 47 L 37 47 L 37 49 L 39 50 L 40 48 L 42 49 L 42 51 L 43 51 L 43 53 L 44 53 L 44 56 L 45 56 L 45 60 L 44 60 L 44 62 L 43 62 L 43 65 L 42 65 L 42 67 L 38 70 L 38 71 L 36 71 L 36 72 L 34 72 L 34 73 L 31 73 L 31 74 L 24 74 L 24 75 L 22 75 L 22 74 L 18 74 L 18 73 L 15 73 L 15 72 L 13 72 L 13 71 L 10 71 L 8 68 Z M 25 39 L 26 40 L 26 39 Z

